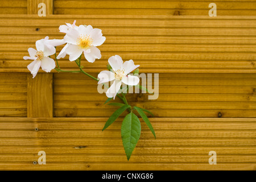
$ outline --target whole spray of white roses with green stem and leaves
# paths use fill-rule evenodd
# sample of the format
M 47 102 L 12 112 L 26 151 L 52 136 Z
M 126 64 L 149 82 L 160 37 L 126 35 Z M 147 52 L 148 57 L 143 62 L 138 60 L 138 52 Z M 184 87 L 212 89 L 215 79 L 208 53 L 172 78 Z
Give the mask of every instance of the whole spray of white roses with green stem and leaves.
M 32 63 L 27 66 L 28 70 L 31 72 L 33 78 L 36 76 L 39 68 L 41 67 L 45 72 L 51 72 L 52 69 L 55 69 L 57 72 L 84 73 L 90 78 L 98 81 L 98 84 L 105 84 L 106 82 L 113 81 L 113 84 L 106 91 L 108 100 L 105 102 L 105 104 L 112 100 L 112 98 L 115 99 L 116 96 L 120 98 L 124 104 L 116 102 L 109 104 L 119 106 L 120 108 L 117 109 L 108 119 L 103 130 L 111 125 L 115 119 L 117 119 L 119 115 L 123 113 L 123 111 L 129 111 L 129 114 L 127 114 L 123 119 L 121 127 L 123 146 L 125 148 L 127 159 L 129 160 L 131 153 L 133 152 L 134 147 L 141 135 L 141 123 L 137 115 L 133 113 L 133 110 L 138 111 L 139 115 L 141 115 L 155 136 L 154 129 L 152 128 L 146 114 L 143 112 L 146 111 L 147 113 L 150 113 L 150 111 L 136 106 L 131 107 L 127 103 L 125 97 L 126 92 L 123 92 L 122 88 L 123 84 L 128 85 L 128 88 L 129 86 L 138 86 L 139 77 L 129 75 L 129 73 L 135 69 L 135 72 L 138 73 L 139 65 L 135 65 L 133 60 L 125 61 L 123 63 L 122 58 L 118 55 L 115 55 L 109 57 L 109 71 L 102 71 L 98 74 L 98 78 L 95 78 L 82 69 L 84 67 L 81 65 L 81 56 L 84 54 L 85 59 L 89 63 L 93 63 L 96 59 L 101 59 L 101 51 L 97 47 L 101 46 L 106 40 L 105 36 L 102 36 L 102 31 L 98 28 L 93 28 L 90 25 L 76 26 L 76 20 L 73 22 L 73 24 L 66 23 L 65 25 L 61 25 L 59 30 L 65 34 L 63 39 L 50 40 L 48 36 L 46 36 L 46 38 L 36 41 L 36 49 L 28 48 L 28 53 L 30 56 L 23 57 L 25 60 L 33 60 Z M 64 44 L 65 46 L 63 49 L 61 49 L 59 55 L 56 55 L 56 47 Z M 55 55 L 55 60 L 51 58 L 52 55 Z M 79 67 L 78 71 L 67 71 L 60 69 L 58 59 L 64 58 L 67 55 L 69 56 L 69 61 L 75 61 Z M 119 95 L 120 93 L 122 96 Z M 150 114 L 152 115 L 152 113 Z

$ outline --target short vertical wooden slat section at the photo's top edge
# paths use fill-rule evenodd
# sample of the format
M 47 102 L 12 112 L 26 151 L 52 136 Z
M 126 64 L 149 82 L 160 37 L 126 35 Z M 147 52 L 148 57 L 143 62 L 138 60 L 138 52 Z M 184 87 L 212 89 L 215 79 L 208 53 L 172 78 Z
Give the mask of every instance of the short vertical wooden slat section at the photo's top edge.
M 53 0 L 27 0 L 27 14 L 38 14 L 38 4 L 46 4 L 46 14 L 53 14 Z

